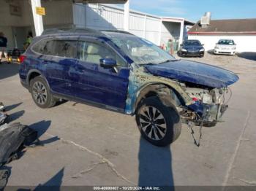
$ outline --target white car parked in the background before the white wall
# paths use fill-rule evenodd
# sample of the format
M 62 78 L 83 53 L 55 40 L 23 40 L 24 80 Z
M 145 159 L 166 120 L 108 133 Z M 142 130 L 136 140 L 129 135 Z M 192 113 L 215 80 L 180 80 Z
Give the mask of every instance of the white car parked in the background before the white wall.
M 236 43 L 233 39 L 220 39 L 214 47 L 214 54 L 235 55 Z

